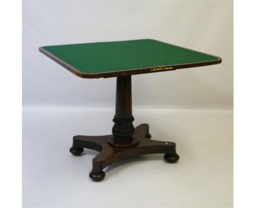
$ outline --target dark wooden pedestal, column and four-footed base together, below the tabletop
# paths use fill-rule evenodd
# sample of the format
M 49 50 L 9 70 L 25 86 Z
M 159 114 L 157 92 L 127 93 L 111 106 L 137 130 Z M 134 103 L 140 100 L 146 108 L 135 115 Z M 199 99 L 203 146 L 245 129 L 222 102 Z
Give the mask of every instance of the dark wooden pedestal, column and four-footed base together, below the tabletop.
M 70 152 L 75 156 L 80 155 L 84 148 L 100 152 L 92 160 L 90 173 L 92 180 L 103 180 L 105 176 L 103 169 L 109 164 L 135 155 L 160 153 L 165 154 L 164 158 L 167 162 L 174 163 L 179 160 L 175 143 L 150 139 L 149 125 L 141 124 L 134 128 L 133 120 L 131 76 L 117 77 L 112 135 L 74 136 L 73 145 L 70 149 Z

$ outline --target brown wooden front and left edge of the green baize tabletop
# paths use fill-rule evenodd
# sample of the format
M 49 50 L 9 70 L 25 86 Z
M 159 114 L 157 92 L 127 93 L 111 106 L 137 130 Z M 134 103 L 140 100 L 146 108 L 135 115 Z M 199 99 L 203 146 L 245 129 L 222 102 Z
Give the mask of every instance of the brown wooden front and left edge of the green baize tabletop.
M 43 53 L 45 56 L 54 60 L 56 63 L 66 68 L 67 70 L 69 70 L 70 72 L 72 72 L 74 75 L 77 75 L 78 77 L 82 77 L 82 78 L 110 78 L 110 77 L 118 77 L 118 76 L 146 74 L 146 73 L 153 73 L 153 72 L 160 72 L 160 71 L 173 71 L 176 69 L 193 68 L 197 66 L 207 66 L 207 65 L 222 63 L 222 58 L 217 57 L 216 60 L 211 60 L 206 62 L 153 66 L 150 68 L 127 69 L 127 70 L 121 70 L 121 71 L 110 71 L 110 72 L 102 72 L 102 73 L 95 73 L 95 74 L 86 74 L 86 73 L 80 72 L 79 70 L 75 69 L 73 66 L 67 64 L 66 62 L 63 62 L 63 60 L 54 56 L 54 54 L 44 50 L 43 46 L 39 47 L 39 51 Z

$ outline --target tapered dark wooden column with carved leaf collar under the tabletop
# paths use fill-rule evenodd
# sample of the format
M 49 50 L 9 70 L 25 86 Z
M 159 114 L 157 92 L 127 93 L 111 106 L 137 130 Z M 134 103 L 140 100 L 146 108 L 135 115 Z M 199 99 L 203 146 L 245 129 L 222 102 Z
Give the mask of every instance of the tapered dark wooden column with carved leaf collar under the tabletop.
M 131 76 L 117 77 L 115 95 L 115 116 L 112 133 L 115 140 L 126 142 L 133 139 L 135 129 L 132 125 L 132 88 Z

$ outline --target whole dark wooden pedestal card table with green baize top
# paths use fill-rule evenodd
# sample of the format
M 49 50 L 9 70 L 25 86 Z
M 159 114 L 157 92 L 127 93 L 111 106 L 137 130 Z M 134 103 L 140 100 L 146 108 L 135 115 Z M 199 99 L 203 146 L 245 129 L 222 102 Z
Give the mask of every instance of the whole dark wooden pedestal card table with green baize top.
M 39 51 L 79 77 L 117 77 L 112 134 L 74 136 L 69 149 L 74 156 L 84 148 L 100 152 L 92 160 L 89 176 L 93 181 L 103 180 L 103 169 L 110 164 L 136 155 L 165 154 L 169 163 L 179 160 L 175 143 L 150 139 L 148 124 L 133 126 L 132 75 L 222 62 L 217 56 L 152 39 L 43 46 Z

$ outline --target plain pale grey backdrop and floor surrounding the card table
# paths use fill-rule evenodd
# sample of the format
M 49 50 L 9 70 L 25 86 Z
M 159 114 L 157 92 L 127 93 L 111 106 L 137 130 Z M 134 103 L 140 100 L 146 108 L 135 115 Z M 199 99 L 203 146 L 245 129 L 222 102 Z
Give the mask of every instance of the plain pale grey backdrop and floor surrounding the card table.
M 132 76 L 134 125 L 176 142 L 180 160 L 143 155 L 88 174 L 96 151 L 76 134 L 109 134 L 115 78 L 79 78 L 39 53 L 45 45 L 156 39 L 222 57 L 222 64 Z M 232 207 L 232 1 L 23 1 L 24 207 Z

